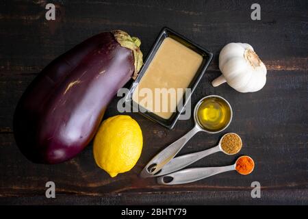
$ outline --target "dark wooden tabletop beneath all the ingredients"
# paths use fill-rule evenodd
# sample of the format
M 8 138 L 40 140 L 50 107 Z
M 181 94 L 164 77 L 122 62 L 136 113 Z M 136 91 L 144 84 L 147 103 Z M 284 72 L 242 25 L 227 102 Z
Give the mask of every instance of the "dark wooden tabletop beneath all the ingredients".
M 45 5 L 55 3 L 56 20 L 45 19 Z M 0 204 L 308 204 L 308 2 L 257 1 L 261 21 L 251 20 L 255 1 L 1 1 L 0 3 Z M 123 29 L 142 40 L 146 54 L 160 29 L 170 27 L 214 53 L 192 104 L 219 94 L 234 110 L 224 131 L 240 134 L 241 154 L 251 155 L 253 174 L 225 172 L 185 185 L 157 185 L 138 173 L 151 157 L 183 136 L 193 120 L 172 131 L 131 114 L 144 134 L 138 164 L 112 179 L 97 167 L 89 145 L 75 159 L 53 166 L 32 164 L 18 151 L 12 115 L 21 94 L 40 70 L 78 42 L 101 31 Z M 253 45 L 268 68 L 266 86 L 242 94 L 224 84 L 218 54 L 229 42 Z M 105 118 L 118 114 L 115 99 Z M 183 153 L 214 146 L 223 133 L 198 133 Z M 236 156 L 211 155 L 193 166 L 220 166 Z M 45 197 L 54 181 L 56 198 Z M 251 198 L 251 183 L 261 184 L 261 198 Z

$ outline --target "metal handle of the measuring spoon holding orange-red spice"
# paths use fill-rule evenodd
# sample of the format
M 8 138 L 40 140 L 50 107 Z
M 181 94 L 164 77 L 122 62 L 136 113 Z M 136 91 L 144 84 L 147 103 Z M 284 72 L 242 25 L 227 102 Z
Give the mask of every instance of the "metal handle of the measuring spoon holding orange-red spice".
M 192 183 L 200 179 L 211 177 L 220 172 L 235 170 L 235 165 L 205 167 L 205 168 L 188 168 L 177 172 L 170 173 L 157 178 L 157 183 L 162 185 L 177 185 L 183 183 Z

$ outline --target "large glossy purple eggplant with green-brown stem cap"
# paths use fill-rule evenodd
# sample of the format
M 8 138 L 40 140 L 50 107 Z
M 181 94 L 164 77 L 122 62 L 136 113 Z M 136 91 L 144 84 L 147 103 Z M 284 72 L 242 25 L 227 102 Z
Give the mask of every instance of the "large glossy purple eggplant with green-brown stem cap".
M 142 65 L 140 40 L 124 31 L 88 38 L 46 66 L 14 112 L 14 138 L 31 162 L 75 157 L 97 132 L 107 105 Z

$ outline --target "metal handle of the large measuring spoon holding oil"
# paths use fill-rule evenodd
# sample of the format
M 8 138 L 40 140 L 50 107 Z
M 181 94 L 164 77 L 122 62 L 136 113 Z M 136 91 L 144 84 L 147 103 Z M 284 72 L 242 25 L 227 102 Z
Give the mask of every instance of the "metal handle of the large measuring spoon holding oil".
M 195 126 L 192 130 L 188 131 L 182 138 L 173 142 L 169 146 L 166 147 L 163 151 L 158 153 L 151 161 L 146 164 L 142 172 L 140 173 L 140 177 L 155 177 L 155 173 L 162 169 L 162 167 L 181 151 L 183 146 L 201 129 L 198 126 Z

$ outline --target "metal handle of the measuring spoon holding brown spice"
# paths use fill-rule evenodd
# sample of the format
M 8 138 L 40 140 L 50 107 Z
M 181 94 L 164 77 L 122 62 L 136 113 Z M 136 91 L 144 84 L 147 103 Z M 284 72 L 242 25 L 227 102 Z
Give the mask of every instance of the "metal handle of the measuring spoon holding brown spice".
M 156 174 L 155 177 L 166 175 L 170 172 L 175 172 L 177 170 L 181 170 L 185 166 L 193 164 L 194 162 L 198 161 L 199 159 L 206 157 L 208 155 L 211 155 L 213 153 L 216 153 L 218 151 L 220 151 L 219 145 L 214 146 L 213 148 L 207 149 L 205 151 L 199 151 L 199 152 L 196 152 L 196 153 L 190 153 L 190 154 L 187 154 L 187 155 L 175 157 L 175 158 L 171 159 L 171 161 L 168 164 L 163 166 L 162 170 L 158 174 Z

